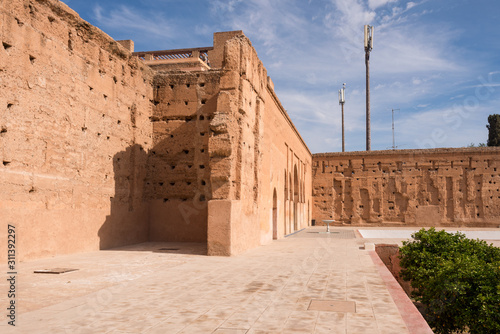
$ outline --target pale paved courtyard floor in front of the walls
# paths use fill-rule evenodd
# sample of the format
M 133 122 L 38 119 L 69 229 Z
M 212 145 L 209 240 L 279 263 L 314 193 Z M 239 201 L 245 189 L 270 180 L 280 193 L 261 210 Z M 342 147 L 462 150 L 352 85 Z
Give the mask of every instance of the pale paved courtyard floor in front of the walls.
M 431 333 L 364 249 L 371 239 L 324 231 L 236 257 L 204 256 L 202 244 L 145 243 L 21 263 L 16 328 L 4 316 L 0 332 Z M 33 273 L 51 268 L 78 270 Z M 0 289 L 5 310 L 6 280 Z

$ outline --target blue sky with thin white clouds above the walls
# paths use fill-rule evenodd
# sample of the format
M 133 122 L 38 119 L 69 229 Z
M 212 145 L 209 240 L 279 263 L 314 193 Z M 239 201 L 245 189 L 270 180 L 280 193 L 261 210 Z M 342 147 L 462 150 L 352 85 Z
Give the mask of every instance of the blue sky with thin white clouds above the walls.
M 372 150 L 485 143 L 500 113 L 500 1 L 66 0 L 136 51 L 212 45 L 243 30 L 313 153 L 341 151 L 338 90 L 347 84 L 346 151 L 365 150 L 363 25 L 370 57 Z

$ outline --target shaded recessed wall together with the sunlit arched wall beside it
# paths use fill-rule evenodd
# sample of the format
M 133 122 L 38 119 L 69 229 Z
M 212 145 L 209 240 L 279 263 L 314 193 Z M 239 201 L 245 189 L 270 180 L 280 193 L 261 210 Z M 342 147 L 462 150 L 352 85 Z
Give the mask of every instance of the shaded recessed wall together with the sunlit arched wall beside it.
M 177 52 L 199 63 L 200 49 Z M 312 157 L 241 31 L 214 34 L 204 50 L 208 70 L 137 53 L 157 71 L 150 237 L 238 254 L 308 225 Z

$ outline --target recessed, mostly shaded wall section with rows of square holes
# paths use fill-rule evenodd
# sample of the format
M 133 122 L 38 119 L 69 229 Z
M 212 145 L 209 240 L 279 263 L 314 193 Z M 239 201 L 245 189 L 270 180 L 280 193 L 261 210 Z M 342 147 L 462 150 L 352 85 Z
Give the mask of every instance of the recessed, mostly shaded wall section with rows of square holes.
M 147 162 L 150 240 L 207 240 L 212 198 L 208 141 L 219 71 L 163 72 L 154 78 L 153 148 Z

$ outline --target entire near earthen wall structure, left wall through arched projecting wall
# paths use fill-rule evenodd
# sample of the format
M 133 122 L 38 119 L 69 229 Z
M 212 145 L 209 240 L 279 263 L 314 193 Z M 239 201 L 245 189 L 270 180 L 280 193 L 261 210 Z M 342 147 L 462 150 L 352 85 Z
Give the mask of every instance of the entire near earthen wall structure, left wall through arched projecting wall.
M 18 260 L 144 241 L 233 255 L 308 225 L 311 153 L 241 31 L 172 60 L 57 0 L 0 15 L 0 247 L 14 224 Z

